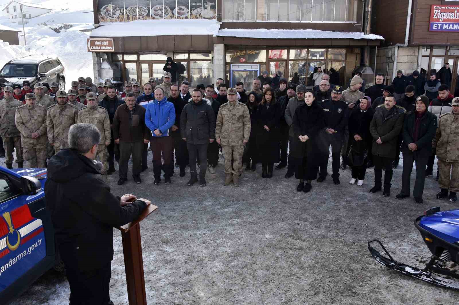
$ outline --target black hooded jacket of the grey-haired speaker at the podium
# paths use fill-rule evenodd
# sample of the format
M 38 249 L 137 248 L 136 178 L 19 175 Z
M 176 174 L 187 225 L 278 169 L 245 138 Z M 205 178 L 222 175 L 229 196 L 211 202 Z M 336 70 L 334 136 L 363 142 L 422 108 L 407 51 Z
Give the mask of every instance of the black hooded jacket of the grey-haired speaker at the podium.
M 113 259 L 113 227 L 133 221 L 146 203 L 120 206 L 120 198 L 97 175 L 92 160 L 62 149 L 48 162 L 46 206 L 66 267 L 78 272 L 101 268 Z

